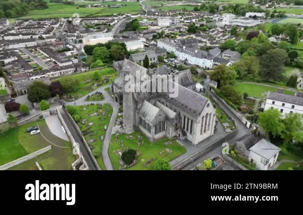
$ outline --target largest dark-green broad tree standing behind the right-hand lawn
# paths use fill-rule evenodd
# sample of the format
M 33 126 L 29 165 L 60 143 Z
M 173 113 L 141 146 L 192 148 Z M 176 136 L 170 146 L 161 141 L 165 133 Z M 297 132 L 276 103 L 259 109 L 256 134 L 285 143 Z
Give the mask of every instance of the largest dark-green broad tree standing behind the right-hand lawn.
M 283 79 L 284 63 L 287 61 L 287 52 L 284 49 L 270 49 L 262 55 L 261 75 L 265 80 Z

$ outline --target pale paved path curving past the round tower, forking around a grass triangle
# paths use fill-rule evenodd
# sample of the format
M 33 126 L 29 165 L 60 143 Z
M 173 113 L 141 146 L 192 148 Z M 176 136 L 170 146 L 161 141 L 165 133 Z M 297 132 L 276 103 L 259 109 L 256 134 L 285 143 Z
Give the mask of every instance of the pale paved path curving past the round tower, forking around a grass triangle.
M 105 135 L 105 138 L 104 138 L 104 141 L 103 141 L 102 159 L 103 159 L 103 163 L 105 165 L 106 170 L 114 170 L 111 159 L 110 159 L 110 156 L 108 154 L 108 148 L 109 148 L 109 145 L 110 145 L 110 142 L 111 142 L 112 130 L 113 130 L 113 127 L 115 125 L 116 117 L 117 117 L 117 114 L 118 114 L 118 105 L 114 102 L 111 95 L 105 91 L 105 89 L 108 88 L 108 87 L 110 87 L 110 85 L 100 87 L 100 88 L 90 92 L 86 96 L 81 97 L 80 99 L 78 99 L 74 102 L 66 103 L 66 105 L 83 106 L 83 105 L 89 105 L 89 104 L 109 104 L 113 107 L 112 117 L 111 117 L 110 123 L 109 123 L 107 131 L 106 131 L 106 135 Z M 86 102 L 85 101 L 87 96 L 93 95 L 96 92 L 101 92 L 104 95 L 104 100 L 94 101 L 94 102 Z

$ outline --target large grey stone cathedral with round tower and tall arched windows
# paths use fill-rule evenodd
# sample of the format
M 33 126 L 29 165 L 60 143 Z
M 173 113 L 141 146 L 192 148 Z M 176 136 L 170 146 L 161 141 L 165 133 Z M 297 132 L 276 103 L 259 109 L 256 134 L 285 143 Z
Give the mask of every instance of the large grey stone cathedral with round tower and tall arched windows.
M 187 139 L 193 145 L 213 135 L 216 109 L 208 98 L 195 92 L 195 82 L 189 69 L 174 71 L 166 66 L 146 69 L 128 59 L 117 61 L 113 67 L 118 78 L 111 86 L 115 101 L 123 105 L 125 133 L 140 129 L 151 141 L 163 136 Z M 169 92 L 128 92 L 125 90 L 127 75 L 178 77 L 173 82 L 177 95 Z M 176 79 L 173 79 L 176 80 Z M 151 83 L 156 83 L 151 78 Z

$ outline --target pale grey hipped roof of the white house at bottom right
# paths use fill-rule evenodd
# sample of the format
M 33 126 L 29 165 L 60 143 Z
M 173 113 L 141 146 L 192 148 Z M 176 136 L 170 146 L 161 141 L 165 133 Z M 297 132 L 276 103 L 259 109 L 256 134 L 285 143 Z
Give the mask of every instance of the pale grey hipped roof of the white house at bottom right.
M 249 150 L 269 160 L 273 156 L 275 156 L 281 149 L 263 138 L 255 145 L 253 145 Z

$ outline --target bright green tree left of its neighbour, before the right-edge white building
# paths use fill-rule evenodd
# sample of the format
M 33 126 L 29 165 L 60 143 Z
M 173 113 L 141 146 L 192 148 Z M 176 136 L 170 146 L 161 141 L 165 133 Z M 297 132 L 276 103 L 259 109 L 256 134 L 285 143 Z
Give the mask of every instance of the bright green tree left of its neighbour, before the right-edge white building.
M 277 108 L 270 108 L 260 112 L 258 122 L 268 134 L 274 137 L 280 136 L 284 130 L 281 112 Z

